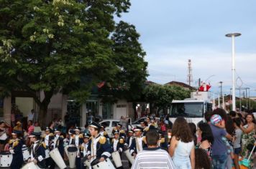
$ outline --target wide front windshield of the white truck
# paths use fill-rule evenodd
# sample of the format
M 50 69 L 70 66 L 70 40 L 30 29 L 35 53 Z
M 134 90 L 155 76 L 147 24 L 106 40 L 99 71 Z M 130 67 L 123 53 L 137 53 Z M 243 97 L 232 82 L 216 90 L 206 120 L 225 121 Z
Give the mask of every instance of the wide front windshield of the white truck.
M 172 103 L 170 117 L 204 117 L 204 102 Z

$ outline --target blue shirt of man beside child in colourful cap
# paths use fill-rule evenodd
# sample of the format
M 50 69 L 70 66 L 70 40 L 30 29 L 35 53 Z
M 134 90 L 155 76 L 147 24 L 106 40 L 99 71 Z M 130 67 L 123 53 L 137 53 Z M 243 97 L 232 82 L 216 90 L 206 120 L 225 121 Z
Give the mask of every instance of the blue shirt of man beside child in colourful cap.
M 211 127 L 212 134 L 214 135 L 214 144 L 211 145 L 212 155 L 227 154 L 227 145 L 221 139 L 221 137 L 225 137 L 227 135 L 226 130 L 211 124 L 210 124 L 210 127 Z

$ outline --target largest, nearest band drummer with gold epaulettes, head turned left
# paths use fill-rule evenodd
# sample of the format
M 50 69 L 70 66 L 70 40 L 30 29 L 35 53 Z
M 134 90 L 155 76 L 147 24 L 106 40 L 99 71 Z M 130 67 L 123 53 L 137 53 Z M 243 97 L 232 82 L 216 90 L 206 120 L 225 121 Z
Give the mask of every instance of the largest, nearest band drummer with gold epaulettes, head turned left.
M 89 125 L 89 130 L 91 133 L 91 138 L 88 143 L 88 159 L 91 162 L 95 159 L 99 159 L 99 161 L 104 161 L 106 158 L 111 156 L 112 150 L 111 145 L 106 141 L 106 137 L 99 135 L 99 130 L 101 126 L 92 122 Z

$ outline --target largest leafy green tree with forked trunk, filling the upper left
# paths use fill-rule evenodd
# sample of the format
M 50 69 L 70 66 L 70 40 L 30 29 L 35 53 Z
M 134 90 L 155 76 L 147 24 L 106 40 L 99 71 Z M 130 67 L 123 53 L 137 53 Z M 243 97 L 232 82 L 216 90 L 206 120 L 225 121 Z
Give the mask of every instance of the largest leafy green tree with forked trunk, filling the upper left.
M 44 122 L 47 105 L 56 92 L 65 91 L 83 102 L 92 85 L 102 81 L 120 84 L 129 77 L 121 74 L 140 70 L 141 75 L 129 83 L 137 86 L 136 81 L 145 79 L 145 67 L 125 67 L 123 71 L 119 57 L 125 50 L 117 49 L 128 42 L 117 44 L 118 37 L 129 32 L 125 26 L 134 27 L 124 22 L 116 26 L 114 21 L 114 16 L 121 16 L 129 6 L 129 0 L 0 0 L 1 93 L 29 92 L 40 106 Z M 134 53 L 140 48 L 135 47 L 140 44 L 132 44 L 136 40 L 129 44 Z M 125 59 L 132 57 L 130 64 L 143 60 L 144 52 L 137 54 L 138 58 L 130 52 Z M 44 92 L 43 100 L 37 97 L 39 91 Z

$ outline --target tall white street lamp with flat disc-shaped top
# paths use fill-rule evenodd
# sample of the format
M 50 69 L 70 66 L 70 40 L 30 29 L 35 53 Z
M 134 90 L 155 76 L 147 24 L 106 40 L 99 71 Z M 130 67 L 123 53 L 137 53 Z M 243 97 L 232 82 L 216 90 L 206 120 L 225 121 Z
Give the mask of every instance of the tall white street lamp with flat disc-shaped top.
M 236 87 L 235 87 L 235 79 L 234 79 L 234 73 L 235 73 L 235 67 L 234 67 L 234 37 L 239 37 L 240 33 L 231 33 L 226 34 L 226 37 L 232 38 L 232 110 L 236 110 Z

